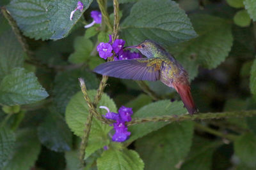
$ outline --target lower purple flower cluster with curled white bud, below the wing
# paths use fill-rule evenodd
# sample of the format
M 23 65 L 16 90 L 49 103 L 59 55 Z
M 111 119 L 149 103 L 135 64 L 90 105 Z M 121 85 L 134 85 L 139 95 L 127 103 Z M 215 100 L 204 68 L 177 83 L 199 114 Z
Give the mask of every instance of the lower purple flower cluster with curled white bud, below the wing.
M 112 141 L 123 142 L 129 138 L 131 132 L 128 132 L 127 125 L 125 122 L 130 122 L 132 120 L 131 115 L 133 114 L 132 108 L 126 108 L 122 106 L 118 113 L 110 112 L 106 106 L 100 106 L 108 111 L 106 115 L 103 115 L 105 118 L 115 120 L 113 124 L 115 134 L 112 136 Z

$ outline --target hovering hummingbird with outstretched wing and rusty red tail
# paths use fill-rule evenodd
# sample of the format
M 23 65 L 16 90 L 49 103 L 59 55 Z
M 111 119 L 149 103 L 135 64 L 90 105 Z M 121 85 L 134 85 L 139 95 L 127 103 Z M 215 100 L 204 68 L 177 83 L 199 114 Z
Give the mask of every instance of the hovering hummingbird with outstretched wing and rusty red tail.
M 179 93 L 189 114 L 197 112 L 189 87 L 188 73 L 170 53 L 152 40 L 125 48 L 136 48 L 147 58 L 105 62 L 95 67 L 94 72 L 131 80 L 160 80 Z

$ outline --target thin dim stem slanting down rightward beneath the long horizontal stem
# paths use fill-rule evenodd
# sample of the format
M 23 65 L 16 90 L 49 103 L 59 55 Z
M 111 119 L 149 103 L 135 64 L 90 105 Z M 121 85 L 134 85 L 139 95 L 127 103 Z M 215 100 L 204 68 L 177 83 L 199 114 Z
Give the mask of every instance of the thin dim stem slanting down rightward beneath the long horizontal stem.
M 211 129 L 210 127 L 207 127 L 207 126 L 204 126 L 204 125 L 201 125 L 201 124 L 198 124 L 198 123 L 195 123 L 195 127 L 202 130 L 202 131 L 205 131 L 205 132 L 209 132 L 210 134 L 214 134 L 215 136 L 220 136 L 221 138 L 226 138 L 230 141 L 235 141 L 237 136 L 236 135 L 233 135 L 233 134 L 223 134 L 219 131 L 216 131 L 214 129 Z

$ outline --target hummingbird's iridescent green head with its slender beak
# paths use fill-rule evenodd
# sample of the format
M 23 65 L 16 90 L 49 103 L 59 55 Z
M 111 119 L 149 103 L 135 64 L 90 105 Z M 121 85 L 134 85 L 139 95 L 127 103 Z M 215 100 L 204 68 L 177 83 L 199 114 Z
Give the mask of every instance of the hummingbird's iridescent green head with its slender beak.
M 164 48 L 152 40 L 145 40 L 139 45 L 128 46 L 126 48 L 136 48 L 147 58 L 158 57 L 159 53 L 165 52 Z

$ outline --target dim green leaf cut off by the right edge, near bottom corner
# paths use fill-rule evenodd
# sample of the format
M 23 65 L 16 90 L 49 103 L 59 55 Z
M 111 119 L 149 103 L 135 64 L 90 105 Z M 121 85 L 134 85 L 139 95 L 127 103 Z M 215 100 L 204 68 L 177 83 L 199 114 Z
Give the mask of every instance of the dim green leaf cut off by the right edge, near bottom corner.
M 252 132 L 239 136 L 234 143 L 234 150 L 247 166 L 256 166 L 256 136 Z

